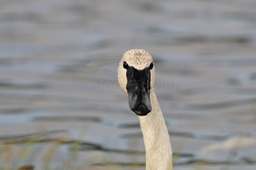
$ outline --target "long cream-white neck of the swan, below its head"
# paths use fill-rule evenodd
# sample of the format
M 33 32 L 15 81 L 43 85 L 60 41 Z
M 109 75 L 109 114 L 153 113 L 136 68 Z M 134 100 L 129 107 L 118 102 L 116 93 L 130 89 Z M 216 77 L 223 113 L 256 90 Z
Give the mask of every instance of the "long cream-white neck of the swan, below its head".
M 146 169 L 172 170 L 172 147 L 154 89 L 150 92 L 152 111 L 139 116 L 146 149 Z

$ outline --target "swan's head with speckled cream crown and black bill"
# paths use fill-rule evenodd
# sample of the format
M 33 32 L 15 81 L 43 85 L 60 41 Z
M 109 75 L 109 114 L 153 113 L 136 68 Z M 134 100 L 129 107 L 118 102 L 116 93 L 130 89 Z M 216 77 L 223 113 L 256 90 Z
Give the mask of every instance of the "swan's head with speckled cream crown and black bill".
M 129 107 L 138 116 L 151 112 L 150 91 L 154 89 L 152 56 L 142 49 L 128 50 L 118 66 L 120 88 L 129 98 Z

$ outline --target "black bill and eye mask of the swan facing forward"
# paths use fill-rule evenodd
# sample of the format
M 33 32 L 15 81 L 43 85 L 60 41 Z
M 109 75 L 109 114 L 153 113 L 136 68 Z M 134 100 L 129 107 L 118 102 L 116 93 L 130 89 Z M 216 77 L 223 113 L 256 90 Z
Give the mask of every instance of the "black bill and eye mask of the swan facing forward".
M 150 70 L 153 63 L 143 70 L 127 65 L 124 61 L 124 68 L 127 69 L 127 93 L 129 97 L 129 107 L 138 116 L 146 116 L 151 112 L 150 104 Z

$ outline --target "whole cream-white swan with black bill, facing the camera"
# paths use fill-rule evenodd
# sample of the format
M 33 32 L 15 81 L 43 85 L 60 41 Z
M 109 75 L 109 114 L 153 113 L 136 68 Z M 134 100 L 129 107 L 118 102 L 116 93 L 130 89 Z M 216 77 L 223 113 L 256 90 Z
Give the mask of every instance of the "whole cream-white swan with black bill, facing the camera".
M 143 49 L 124 53 L 118 66 L 120 88 L 130 109 L 138 115 L 146 150 L 147 170 L 172 170 L 172 146 L 162 111 L 154 92 L 155 67 Z

